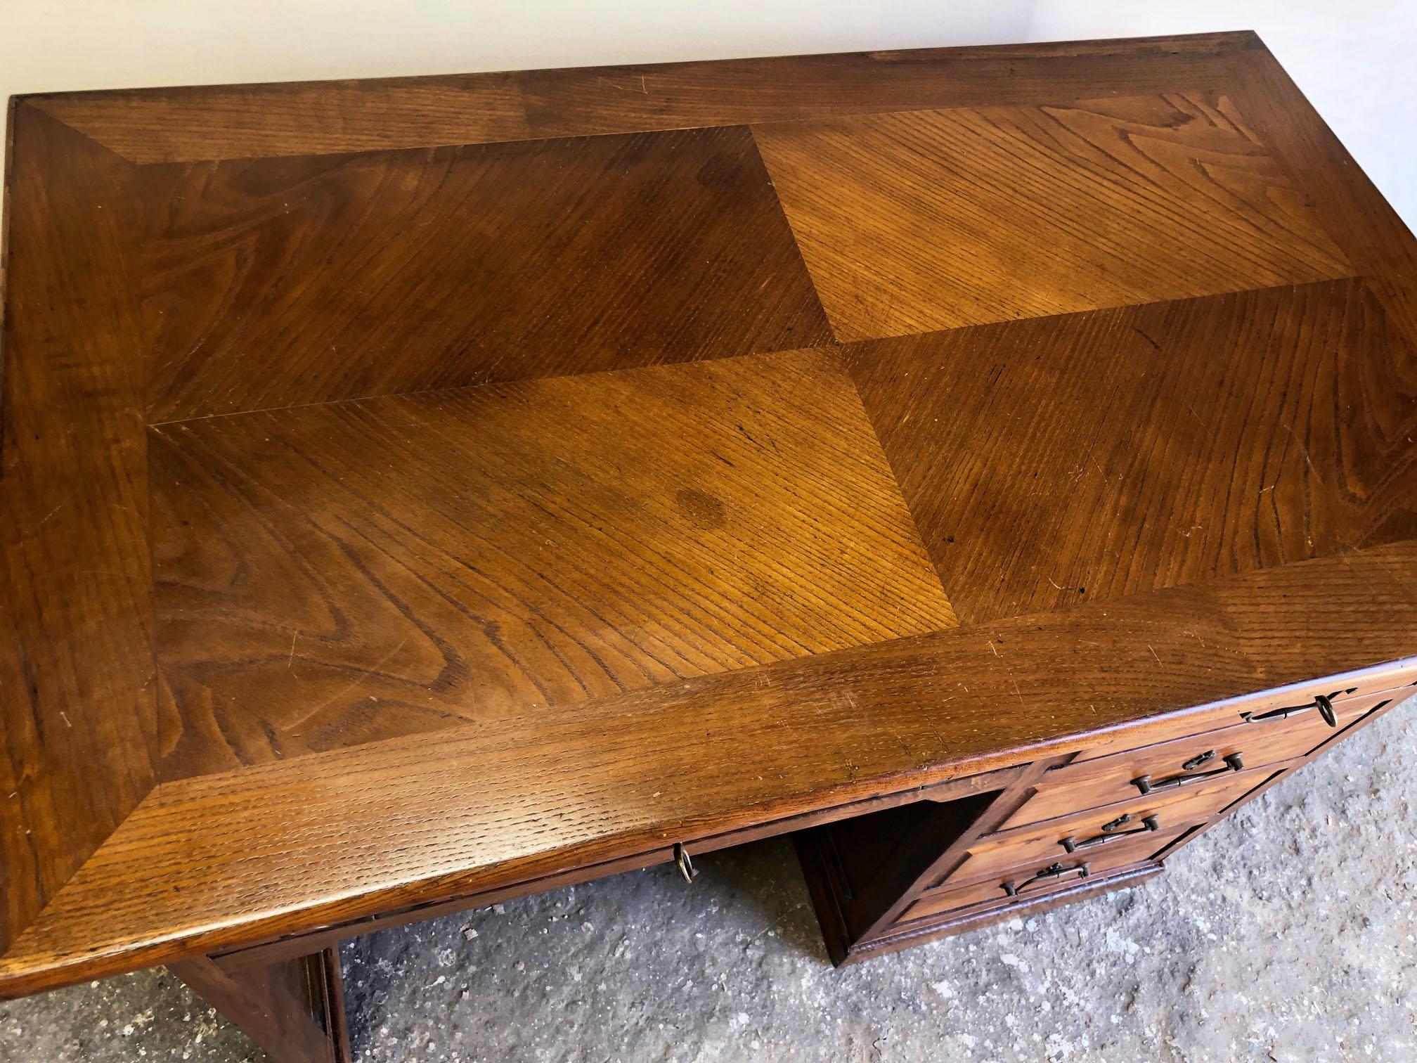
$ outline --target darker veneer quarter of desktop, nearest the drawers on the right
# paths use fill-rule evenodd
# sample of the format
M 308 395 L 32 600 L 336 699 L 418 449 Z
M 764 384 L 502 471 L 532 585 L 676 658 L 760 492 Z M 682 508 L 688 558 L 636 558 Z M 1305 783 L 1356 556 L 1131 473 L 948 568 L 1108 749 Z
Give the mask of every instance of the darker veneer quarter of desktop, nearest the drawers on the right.
M 1356 281 L 850 357 L 966 624 L 1417 532 L 1417 357 Z

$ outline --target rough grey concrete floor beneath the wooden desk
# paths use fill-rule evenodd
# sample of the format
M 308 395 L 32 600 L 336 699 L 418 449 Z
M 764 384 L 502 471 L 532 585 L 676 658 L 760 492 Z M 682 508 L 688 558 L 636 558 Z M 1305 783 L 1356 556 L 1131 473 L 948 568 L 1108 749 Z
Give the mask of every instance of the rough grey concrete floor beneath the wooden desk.
M 791 845 L 351 941 L 374 1060 L 1417 1059 L 1417 702 L 1158 879 L 833 971 Z M 0 1003 L 0 1060 L 259 1060 L 176 979 Z

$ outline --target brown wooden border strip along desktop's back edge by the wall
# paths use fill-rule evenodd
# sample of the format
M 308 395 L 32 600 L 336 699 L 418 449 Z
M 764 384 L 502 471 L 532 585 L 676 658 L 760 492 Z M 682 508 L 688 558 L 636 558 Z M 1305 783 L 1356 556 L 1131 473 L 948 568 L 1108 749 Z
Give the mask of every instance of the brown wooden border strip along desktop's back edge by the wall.
M 1207 86 L 1251 33 L 713 62 L 65 92 L 28 101 L 139 163 L 435 147 Z M 1081 94 L 1081 95 L 1078 95 Z

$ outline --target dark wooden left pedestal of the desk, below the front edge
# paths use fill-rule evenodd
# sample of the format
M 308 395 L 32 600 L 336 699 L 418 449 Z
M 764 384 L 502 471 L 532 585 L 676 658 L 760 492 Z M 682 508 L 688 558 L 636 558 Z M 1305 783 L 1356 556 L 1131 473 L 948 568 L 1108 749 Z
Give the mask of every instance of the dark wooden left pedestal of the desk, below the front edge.
M 241 971 L 222 971 L 211 957 L 167 969 L 275 1063 L 350 1063 L 337 945 Z

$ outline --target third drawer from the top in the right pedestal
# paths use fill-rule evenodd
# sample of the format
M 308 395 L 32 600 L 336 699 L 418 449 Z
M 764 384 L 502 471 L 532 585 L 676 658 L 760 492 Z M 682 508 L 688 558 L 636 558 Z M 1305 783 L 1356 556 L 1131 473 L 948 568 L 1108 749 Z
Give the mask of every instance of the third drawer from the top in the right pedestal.
M 1131 801 L 1105 808 L 1050 819 L 1037 826 L 985 835 L 969 846 L 964 863 L 935 884 L 971 882 L 1037 860 L 1066 860 L 1071 853 L 1098 856 L 1111 852 L 1114 846 L 1129 845 L 1125 839 L 1134 838 L 1138 831 L 1159 833 L 1172 826 L 1199 823 L 1264 785 L 1281 768 L 1282 765 L 1275 765 L 1226 772 L 1195 787 L 1159 791 L 1148 797 L 1134 794 Z

